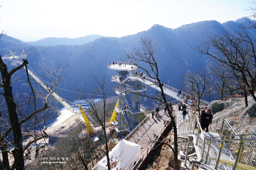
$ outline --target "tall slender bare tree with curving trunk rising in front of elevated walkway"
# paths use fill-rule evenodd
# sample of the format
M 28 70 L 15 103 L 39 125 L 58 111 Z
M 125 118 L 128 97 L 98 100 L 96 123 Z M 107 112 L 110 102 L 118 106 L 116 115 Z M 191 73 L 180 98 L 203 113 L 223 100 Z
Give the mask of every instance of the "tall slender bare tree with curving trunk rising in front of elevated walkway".
M 140 38 L 139 44 L 140 44 L 140 47 L 134 48 L 132 51 L 126 52 L 125 61 L 136 63 L 136 67 L 142 69 L 148 77 L 155 79 L 158 82 L 158 83 L 152 82 L 152 84 L 155 84 L 160 88 L 160 90 L 161 90 L 160 94 L 161 94 L 162 99 L 147 96 L 146 93 L 144 95 L 141 94 L 141 96 L 151 98 L 151 99 L 160 100 L 162 103 L 164 103 L 164 105 L 167 108 L 168 115 L 170 116 L 170 119 L 171 119 L 170 124 L 174 130 L 174 147 L 172 147 L 171 145 L 169 145 L 169 146 L 174 153 L 174 169 L 177 170 L 178 169 L 177 127 L 175 124 L 174 116 L 172 115 L 172 111 L 169 108 L 169 103 L 167 103 L 167 101 L 166 101 L 162 83 L 159 79 L 159 70 L 158 70 L 158 65 L 157 65 L 158 60 L 155 55 L 156 48 L 158 45 L 154 44 L 152 42 L 152 39 L 150 39 L 149 37 L 143 37 L 143 36 Z M 170 159 L 170 161 L 171 161 L 171 159 Z

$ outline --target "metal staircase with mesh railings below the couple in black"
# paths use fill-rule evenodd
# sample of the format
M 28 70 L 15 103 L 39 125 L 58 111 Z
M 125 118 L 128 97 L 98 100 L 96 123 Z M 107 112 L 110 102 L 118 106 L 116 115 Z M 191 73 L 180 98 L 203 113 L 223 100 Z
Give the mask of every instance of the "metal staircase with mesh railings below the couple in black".
M 184 143 L 184 136 L 193 136 L 197 160 L 193 159 L 192 169 L 199 163 L 206 169 L 256 170 L 256 138 L 250 138 L 256 134 L 237 135 L 225 118 L 213 121 L 206 133 L 195 114 L 178 126 L 178 135 L 183 153 L 191 147 Z M 190 156 L 186 153 L 184 166 Z

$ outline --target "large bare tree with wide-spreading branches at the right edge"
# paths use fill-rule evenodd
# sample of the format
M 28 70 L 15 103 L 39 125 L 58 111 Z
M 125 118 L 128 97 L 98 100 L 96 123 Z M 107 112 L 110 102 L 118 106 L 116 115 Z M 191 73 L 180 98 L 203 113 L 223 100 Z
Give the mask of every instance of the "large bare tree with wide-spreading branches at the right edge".
M 240 27 L 240 31 L 224 30 L 218 35 L 208 35 L 208 40 L 200 43 L 195 50 L 223 63 L 227 69 L 238 72 L 256 101 L 254 95 L 256 89 L 255 40 L 247 28 Z

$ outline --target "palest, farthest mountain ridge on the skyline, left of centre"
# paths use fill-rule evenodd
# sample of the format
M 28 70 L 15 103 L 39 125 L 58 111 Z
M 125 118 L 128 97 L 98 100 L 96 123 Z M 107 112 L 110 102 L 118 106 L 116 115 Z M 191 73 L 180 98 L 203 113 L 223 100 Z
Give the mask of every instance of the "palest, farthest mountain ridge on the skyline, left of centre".
M 55 38 L 55 37 L 47 37 L 44 39 L 40 39 L 37 41 L 30 41 L 29 44 L 31 45 L 41 45 L 41 46 L 51 46 L 51 45 L 82 45 L 94 41 L 103 37 L 102 35 L 87 35 L 84 37 L 78 38 Z

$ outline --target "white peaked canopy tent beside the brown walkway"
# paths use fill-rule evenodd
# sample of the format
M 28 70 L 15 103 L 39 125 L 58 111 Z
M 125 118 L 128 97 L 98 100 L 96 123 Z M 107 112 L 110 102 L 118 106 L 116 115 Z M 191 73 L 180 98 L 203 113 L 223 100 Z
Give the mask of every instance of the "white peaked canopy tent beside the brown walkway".
M 117 162 L 116 168 L 122 170 L 130 170 L 133 168 L 134 163 L 137 162 L 140 158 L 140 148 L 141 145 L 132 143 L 127 140 L 121 140 L 112 151 L 109 152 L 109 158 L 112 159 L 113 162 Z M 98 170 L 108 169 L 107 165 L 107 157 L 105 156 L 98 163 Z M 116 169 L 114 168 L 114 169 Z

